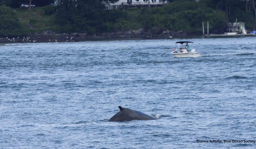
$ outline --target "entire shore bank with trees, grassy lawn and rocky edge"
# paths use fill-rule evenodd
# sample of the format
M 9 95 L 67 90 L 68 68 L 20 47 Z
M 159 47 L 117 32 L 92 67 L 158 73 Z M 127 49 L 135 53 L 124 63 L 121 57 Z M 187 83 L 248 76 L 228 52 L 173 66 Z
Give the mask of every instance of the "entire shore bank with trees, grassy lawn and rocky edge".
M 237 19 L 253 30 L 256 20 L 256 0 L 170 0 L 118 10 L 104 10 L 101 0 L 59 2 L 28 10 L 0 0 L 0 43 L 191 38 L 202 36 L 202 22 L 209 21 L 209 34 L 224 34 L 227 22 Z

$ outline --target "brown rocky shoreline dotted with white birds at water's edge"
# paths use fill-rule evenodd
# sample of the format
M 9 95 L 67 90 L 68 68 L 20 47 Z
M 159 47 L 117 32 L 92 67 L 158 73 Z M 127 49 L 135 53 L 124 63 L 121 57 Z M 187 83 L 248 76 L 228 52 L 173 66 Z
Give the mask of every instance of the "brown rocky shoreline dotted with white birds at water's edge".
M 170 39 L 188 38 L 201 36 L 200 32 L 170 31 L 170 30 L 149 30 L 143 29 L 117 31 L 113 33 L 71 33 L 57 34 L 54 31 L 46 30 L 43 33 L 35 33 L 21 37 L 2 37 L 0 43 L 38 43 L 38 42 L 81 42 L 89 40 L 114 40 L 114 39 Z

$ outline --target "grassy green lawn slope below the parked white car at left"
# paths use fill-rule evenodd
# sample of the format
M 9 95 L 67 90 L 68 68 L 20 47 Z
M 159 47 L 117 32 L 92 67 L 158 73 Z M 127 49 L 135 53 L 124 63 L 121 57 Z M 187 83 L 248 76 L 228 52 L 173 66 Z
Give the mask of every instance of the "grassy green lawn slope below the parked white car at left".
M 31 10 L 17 8 L 16 13 L 25 32 L 55 30 L 58 27 L 54 22 L 55 15 L 45 15 L 44 7 L 35 7 Z

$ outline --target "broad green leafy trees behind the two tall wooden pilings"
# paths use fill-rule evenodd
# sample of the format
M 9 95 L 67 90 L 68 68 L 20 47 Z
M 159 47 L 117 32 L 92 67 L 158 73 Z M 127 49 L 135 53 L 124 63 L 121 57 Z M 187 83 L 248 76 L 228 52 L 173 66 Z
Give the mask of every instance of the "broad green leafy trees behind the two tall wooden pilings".
M 211 7 L 203 2 L 178 0 L 155 9 L 141 9 L 139 20 L 146 30 L 163 28 L 172 31 L 201 31 L 202 22 L 209 21 L 209 29 L 214 30 L 214 33 L 223 32 L 226 27 L 225 13 Z

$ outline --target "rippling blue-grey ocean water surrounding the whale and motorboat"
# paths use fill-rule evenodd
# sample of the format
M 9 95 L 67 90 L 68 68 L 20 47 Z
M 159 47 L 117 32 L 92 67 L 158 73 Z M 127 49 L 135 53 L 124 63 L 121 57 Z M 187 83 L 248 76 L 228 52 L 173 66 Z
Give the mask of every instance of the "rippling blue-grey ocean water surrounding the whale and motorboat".
M 198 58 L 173 58 L 180 40 Z M 256 37 L 0 46 L 0 148 L 255 148 Z M 108 122 L 118 106 L 161 115 Z

